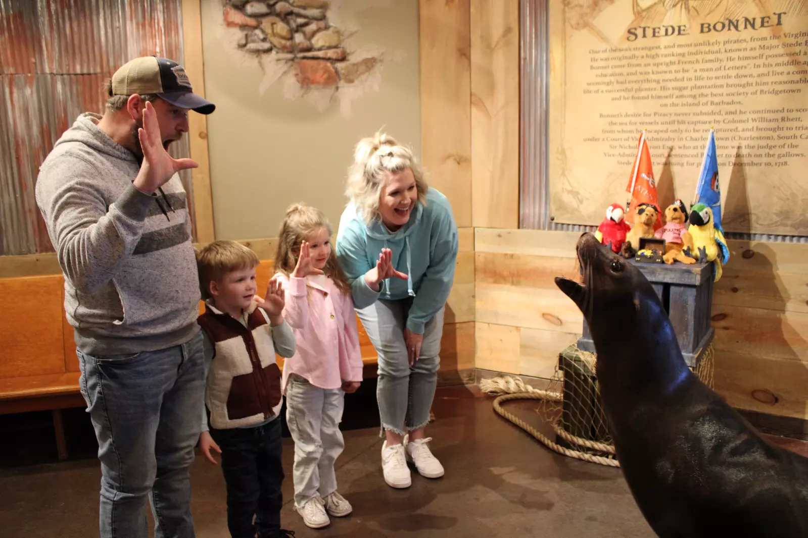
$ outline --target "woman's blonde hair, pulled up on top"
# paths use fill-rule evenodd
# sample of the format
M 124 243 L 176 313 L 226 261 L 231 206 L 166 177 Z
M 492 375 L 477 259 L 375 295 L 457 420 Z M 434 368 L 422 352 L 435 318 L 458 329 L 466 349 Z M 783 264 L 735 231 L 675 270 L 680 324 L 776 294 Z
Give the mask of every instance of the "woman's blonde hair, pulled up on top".
M 389 174 L 406 169 L 412 170 L 418 201 L 426 206 L 429 186 L 424 179 L 423 169 L 410 148 L 398 144 L 392 136 L 381 131 L 356 144 L 354 164 L 348 169 L 345 194 L 360 209 L 365 224 L 369 226 L 380 218 L 379 199 Z

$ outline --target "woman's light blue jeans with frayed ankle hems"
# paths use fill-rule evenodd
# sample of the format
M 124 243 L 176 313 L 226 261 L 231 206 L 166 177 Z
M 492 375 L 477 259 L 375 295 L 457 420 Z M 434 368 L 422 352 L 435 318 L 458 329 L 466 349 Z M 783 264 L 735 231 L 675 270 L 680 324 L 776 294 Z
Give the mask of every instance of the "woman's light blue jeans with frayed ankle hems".
M 410 366 L 404 341 L 412 298 L 378 300 L 357 310 L 364 330 L 379 355 L 376 397 L 381 427 L 400 435 L 429 423 L 440 368 L 440 338 L 444 332 L 445 306 L 427 322 L 421 353 Z

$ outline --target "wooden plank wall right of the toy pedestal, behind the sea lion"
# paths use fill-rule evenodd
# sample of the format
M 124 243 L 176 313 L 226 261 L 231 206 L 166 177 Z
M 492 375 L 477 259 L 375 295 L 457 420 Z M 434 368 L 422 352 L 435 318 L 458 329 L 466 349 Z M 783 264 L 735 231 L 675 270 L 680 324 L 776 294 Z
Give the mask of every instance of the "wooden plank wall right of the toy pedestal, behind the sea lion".
M 716 390 L 733 407 L 808 419 L 808 245 L 728 245 L 713 288 Z

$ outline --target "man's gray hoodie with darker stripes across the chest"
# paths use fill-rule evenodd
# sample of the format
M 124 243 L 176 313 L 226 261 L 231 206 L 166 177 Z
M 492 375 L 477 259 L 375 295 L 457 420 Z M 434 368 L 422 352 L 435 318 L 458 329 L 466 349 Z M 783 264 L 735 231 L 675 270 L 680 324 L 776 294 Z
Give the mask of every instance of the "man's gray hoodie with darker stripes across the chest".
M 65 274 L 65 311 L 90 355 L 154 351 L 199 330 L 199 277 L 179 176 L 149 196 L 128 149 L 82 114 L 40 167 L 36 203 Z

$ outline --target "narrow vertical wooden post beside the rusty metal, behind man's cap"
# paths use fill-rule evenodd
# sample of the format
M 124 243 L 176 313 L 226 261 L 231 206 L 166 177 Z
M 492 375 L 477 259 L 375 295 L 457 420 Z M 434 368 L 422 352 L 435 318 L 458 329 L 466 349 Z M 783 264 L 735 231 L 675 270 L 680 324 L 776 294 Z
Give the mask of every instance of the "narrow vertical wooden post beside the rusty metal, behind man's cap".
M 194 87 L 194 93 L 204 97 L 204 60 L 202 58 L 202 15 L 200 0 L 183 0 L 183 55 L 185 72 Z M 215 114 L 215 112 L 214 112 Z M 200 243 L 213 241 L 213 194 L 210 189 L 210 161 L 208 160 L 208 120 L 203 114 L 188 114 L 188 142 L 191 159 L 198 168 L 191 170 L 194 184 L 194 219 L 196 239 Z

